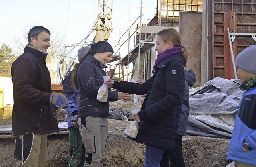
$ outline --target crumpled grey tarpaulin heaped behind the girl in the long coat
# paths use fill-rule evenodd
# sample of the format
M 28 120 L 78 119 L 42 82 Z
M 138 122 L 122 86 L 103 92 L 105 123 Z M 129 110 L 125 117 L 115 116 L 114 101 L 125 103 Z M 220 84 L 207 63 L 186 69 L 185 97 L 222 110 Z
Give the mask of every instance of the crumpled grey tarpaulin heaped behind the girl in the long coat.
M 190 89 L 187 134 L 230 138 L 242 98 L 238 79 L 215 78 Z

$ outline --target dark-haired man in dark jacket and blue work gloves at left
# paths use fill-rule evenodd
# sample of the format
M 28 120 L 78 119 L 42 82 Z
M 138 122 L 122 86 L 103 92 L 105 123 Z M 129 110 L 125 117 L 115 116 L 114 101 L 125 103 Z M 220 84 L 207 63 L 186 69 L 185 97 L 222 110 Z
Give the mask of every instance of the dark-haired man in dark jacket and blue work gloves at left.
M 52 94 L 45 61 L 50 31 L 35 26 L 28 33 L 28 42 L 11 69 L 12 133 L 17 136 L 14 158 L 18 167 L 46 166 L 47 134 L 59 131 L 55 106 L 63 107 L 68 102 L 66 96 Z

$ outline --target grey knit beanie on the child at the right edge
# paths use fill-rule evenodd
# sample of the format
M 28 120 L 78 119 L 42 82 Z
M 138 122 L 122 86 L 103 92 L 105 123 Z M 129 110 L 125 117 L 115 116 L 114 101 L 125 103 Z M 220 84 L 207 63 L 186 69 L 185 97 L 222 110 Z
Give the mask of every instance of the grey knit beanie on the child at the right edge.
M 249 46 L 239 53 L 235 63 L 239 69 L 256 74 L 256 45 Z

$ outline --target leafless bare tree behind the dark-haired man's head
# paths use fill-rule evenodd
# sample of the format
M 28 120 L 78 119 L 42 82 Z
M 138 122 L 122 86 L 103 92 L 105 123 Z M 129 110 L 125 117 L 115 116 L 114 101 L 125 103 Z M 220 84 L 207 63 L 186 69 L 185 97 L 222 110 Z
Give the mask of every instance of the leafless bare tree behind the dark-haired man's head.
M 24 52 L 24 47 L 28 44 L 28 29 L 24 29 L 21 37 L 13 37 L 14 45 L 16 47 L 17 55 L 21 55 Z M 60 58 L 64 54 L 64 37 L 60 31 L 57 33 L 51 31 L 50 48 L 48 49 L 48 57 Z

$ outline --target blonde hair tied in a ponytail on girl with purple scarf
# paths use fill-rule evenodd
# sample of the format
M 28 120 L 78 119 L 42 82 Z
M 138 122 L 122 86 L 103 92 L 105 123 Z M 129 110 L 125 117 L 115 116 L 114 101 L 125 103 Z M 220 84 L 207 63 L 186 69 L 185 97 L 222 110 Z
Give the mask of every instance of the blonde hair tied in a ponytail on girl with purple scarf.
M 180 47 L 181 53 L 185 59 L 184 66 L 186 67 L 188 61 L 188 49 L 185 46 L 181 46 L 180 33 L 173 28 L 164 29 L 159 31 L 157 35 L 161 36 L 164 42 L 171 41 L 173 47 Z

